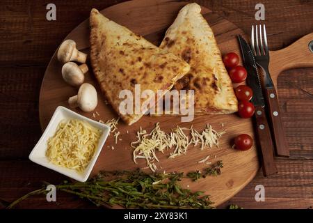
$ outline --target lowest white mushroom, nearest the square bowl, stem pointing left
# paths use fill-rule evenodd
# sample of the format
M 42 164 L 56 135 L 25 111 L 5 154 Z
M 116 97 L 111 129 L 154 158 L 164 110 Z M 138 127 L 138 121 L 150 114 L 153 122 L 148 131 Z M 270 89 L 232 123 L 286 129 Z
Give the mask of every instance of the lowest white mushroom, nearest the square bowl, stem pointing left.
M 92 112 L 97 107 L 97 91 L 91 84 L 81 84 L 77 95 L 68 99 L 70 107 L 79 107 L 83 112 Z

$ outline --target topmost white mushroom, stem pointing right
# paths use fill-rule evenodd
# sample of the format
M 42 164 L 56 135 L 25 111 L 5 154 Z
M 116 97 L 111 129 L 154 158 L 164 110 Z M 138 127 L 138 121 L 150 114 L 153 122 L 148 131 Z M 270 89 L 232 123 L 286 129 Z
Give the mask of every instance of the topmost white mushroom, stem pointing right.
M 69 61 L 77 61 L 79 63 L 86 63 L 87 54 L 79 52 L 76 49 L 74 40 L 65 40 L 58 48 L 58 61 L 67 63 Z

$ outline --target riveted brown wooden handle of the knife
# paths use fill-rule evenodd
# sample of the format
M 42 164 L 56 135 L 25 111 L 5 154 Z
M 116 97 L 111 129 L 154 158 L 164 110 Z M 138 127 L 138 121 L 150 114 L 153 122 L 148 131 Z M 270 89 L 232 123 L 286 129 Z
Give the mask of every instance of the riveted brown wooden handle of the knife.
M 262 156 L 262 169 L 264 176 L 276 174 L 278 169 L 274 163 L 273 141 L 266 120 L 264 108 L 255 107 L 256 132 L 259 141 L 259 153 Z

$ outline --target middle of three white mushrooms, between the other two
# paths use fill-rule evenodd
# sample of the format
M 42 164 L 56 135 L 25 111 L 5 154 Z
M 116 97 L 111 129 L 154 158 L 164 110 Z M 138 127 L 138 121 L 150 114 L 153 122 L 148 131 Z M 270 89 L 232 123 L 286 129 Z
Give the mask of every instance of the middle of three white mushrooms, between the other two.
M 72 86 L 80 86 L 83 84 L 83 81 L 85 80 L 86 72 L 88 72 L 88 66 L 86 63 L 81 64 L 78 66 L 74 62 L 67 62 L 62 67 L 62 77 L 67 82 L 67 84 L 70 84 Z

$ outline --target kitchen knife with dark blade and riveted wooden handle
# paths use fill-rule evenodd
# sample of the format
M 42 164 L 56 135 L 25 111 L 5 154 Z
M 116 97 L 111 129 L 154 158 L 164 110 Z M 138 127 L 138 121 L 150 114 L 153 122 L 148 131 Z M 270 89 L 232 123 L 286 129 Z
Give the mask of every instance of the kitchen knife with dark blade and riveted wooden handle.
M 246 40 L 244 40 L 240 35 L 238 36 L 238 40 L 241 48 L 243 65 L 248 72 L 246 82 L 253 91 L 251 102 L 255 106 L 255 131 L 257 132 L 260 154 L 262 155 L 263 174 L 264 176 L 269 176 L 276 174 L 278 169 L 273 158 L 273 141 L 266 119 L 266 113 L 264 109 L 265 103 L 262 94 L 261 83 L 259 82 L 257 65 L 255 63 L 252 51 L 248 43 L 246 43 Z

